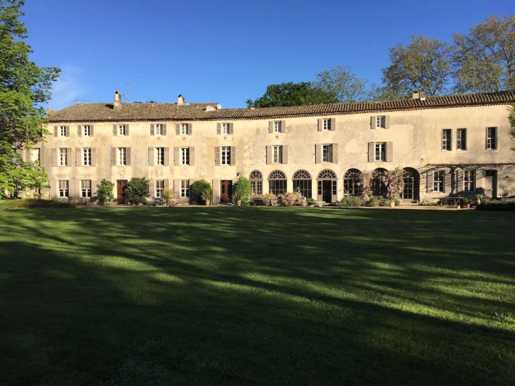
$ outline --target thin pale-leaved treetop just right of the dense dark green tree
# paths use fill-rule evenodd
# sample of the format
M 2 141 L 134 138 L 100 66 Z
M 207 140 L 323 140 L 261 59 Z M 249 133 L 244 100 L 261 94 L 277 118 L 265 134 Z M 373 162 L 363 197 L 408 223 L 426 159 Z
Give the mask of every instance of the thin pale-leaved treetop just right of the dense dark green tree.
M 329 95 L 330 101 L 325 103 L 356 102 L 369 99 L 367 80 L 356 77 L 354 69 L 348 66 L 336 66 L 329 71 L 317 73 L 313 83 L 315 89 L 323 95 Z

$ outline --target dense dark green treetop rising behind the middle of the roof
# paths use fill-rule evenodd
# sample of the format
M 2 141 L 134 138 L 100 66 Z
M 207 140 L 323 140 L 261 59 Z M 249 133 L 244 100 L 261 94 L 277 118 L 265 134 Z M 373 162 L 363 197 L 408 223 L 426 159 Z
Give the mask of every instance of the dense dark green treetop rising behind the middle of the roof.
M 333 102 L 330 95 L 314 88 L 310 82 L 289 82 L 266 86 L 266 92 L 262 97 L 255 101 L 247 99 L 247 107 L 305 106 Z

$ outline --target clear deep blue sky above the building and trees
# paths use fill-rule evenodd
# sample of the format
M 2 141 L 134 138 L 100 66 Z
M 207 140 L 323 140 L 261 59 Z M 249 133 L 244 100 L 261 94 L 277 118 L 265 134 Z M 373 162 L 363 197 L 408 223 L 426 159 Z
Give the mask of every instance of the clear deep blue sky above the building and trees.
M 246 107 L 268 84 L 314 80 L 336 65 L 380 83 L 388 49 L 413 34 L 451 40 L 514 0 L 27 0 L 38 66 L 60 67 L 49 107 L 113 101 Z

